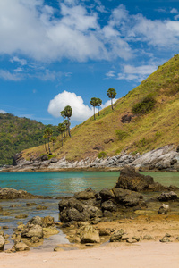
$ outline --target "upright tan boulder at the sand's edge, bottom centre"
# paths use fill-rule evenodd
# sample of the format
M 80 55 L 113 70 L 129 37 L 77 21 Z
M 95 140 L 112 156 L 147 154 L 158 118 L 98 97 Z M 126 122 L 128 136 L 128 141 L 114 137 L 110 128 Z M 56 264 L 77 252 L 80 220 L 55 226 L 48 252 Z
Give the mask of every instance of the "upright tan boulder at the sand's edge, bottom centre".
M 100 243 L 98 230 L 94 229 L 92 225 L 85 226 L 81 230 L 81 243 Z

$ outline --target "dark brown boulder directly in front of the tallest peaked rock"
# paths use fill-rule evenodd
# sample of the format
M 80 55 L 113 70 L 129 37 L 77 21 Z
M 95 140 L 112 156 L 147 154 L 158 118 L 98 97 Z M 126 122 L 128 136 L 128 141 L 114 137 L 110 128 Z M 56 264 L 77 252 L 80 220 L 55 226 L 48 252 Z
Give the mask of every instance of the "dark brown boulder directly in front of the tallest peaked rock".
M 140 193 L 136 193 L 134 191 L 123 188 L 114 188 L 113 192 L 115 194 L 115 201 L 119 205 L 145 205 L 145 203 L 143 203 L 143 197 Z

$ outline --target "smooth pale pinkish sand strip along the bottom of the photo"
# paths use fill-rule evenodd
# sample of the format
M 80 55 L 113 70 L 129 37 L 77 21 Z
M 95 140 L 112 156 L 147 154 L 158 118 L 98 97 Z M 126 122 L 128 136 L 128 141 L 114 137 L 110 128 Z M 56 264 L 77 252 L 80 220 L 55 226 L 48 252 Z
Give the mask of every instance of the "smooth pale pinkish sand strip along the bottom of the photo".
M 179 243 L 142 242 L 135 245 L 60 252 L 0 254 L 1 268 L 172 268 L 179 267 Z

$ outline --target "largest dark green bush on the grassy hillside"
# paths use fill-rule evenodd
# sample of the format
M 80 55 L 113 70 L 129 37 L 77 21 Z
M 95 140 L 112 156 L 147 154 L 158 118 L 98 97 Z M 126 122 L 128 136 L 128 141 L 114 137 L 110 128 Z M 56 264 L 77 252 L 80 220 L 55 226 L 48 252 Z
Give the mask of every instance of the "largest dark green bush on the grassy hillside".
M 132 113 L 145 114 L 149 113 L 153 106 L 156 104 L 156 100 L 153 96 L 145 96 L 140 103 L 132 106 Z

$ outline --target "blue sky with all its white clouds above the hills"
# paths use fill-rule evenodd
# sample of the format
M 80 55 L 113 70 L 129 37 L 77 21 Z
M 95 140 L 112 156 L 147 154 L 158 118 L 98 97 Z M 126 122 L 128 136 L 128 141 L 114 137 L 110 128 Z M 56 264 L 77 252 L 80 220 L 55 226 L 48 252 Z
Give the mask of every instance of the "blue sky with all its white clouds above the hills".
M 72 126 L 179 52 L 179 0 L 0 0 L 0 113 Z

